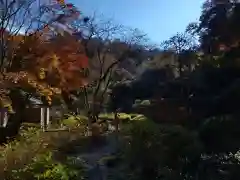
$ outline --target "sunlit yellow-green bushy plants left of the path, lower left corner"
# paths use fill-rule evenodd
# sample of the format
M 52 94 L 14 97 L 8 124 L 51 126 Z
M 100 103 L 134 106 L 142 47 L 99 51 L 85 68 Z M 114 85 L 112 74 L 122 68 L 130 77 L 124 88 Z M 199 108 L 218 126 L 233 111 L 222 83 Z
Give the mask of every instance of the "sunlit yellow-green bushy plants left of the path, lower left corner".
M 81 166 L 72 164 L 62 147 L 72 149 L 72 142 L 83 137 L 84 127 L 68 127 L 67 131 L 42 132 L 38 126 L 24 124 L 16 140 L 0 146 L 0 179 L 81 179 Z

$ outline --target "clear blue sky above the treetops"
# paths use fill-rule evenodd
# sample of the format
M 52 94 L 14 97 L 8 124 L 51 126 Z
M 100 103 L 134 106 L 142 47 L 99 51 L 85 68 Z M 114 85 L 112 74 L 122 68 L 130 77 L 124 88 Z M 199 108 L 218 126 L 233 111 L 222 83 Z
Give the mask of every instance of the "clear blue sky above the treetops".
M 84 14 L 94 11 L 148 34 L 155 42 L 182 32 L 198 20 L 204 0 L 69 0 Z

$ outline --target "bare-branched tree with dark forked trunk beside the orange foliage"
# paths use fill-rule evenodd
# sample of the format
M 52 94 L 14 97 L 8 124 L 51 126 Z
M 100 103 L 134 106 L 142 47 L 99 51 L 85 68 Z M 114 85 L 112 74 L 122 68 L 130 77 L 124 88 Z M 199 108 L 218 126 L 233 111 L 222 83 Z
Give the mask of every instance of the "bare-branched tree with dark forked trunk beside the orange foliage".
M 76 22 L 75 22 L 76 23 Z M 92 102 L 103 102 L 106 90 L 110 84 L 109 76 L 116 67 L 131 57 L 136 57 L 138 49 L 147 48 L 148 39 L 138 29 L 131 29 L 104 19 L 96 13 L 86 24 L 75 24 L 79 29 L 85 29 L 83 46 L 90 61 L 90 82 L 96 82 L 93 89 Z M 86 87 L 85 87 L 86 91 Z

